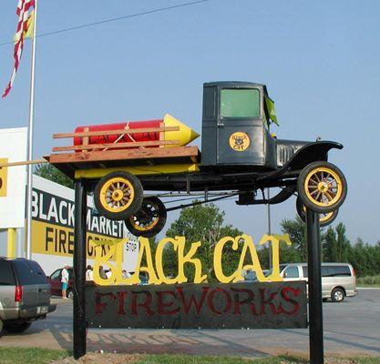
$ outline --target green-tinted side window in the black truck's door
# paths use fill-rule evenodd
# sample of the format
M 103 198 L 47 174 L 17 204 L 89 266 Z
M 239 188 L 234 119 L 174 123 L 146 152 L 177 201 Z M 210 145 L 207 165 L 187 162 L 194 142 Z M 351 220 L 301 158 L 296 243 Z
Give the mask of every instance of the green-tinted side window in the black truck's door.
M 221 90 L 222 117 L 260 117 L 260 91 L 253 89 Z

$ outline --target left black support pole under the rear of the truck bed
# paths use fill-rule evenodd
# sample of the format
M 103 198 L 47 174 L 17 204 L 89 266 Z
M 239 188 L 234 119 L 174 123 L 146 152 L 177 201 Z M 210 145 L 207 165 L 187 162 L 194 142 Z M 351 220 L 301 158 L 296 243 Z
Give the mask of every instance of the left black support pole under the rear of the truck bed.
M 74 226 L 74 358 L 86 354 L 86 215 L 87 193 L 84 180 L 75 183 L 75 226 Z

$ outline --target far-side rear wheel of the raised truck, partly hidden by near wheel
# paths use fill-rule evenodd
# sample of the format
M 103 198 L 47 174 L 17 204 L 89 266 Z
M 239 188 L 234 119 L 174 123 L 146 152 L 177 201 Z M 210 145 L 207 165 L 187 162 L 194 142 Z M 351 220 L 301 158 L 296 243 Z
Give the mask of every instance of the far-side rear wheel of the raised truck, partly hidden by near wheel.
M 151 238 L 159 234 L 166 224 L 167 211 L 159 197 L 145 197 L 139 211 L 124 222 L 136 237 Z

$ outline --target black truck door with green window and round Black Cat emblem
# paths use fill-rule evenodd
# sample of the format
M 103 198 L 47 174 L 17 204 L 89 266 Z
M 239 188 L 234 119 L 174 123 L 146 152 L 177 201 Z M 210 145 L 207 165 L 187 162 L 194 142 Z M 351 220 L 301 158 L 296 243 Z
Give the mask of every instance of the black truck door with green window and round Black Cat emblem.
M 261 98 L 258 88 L 221 88 L 217 164 L 264 163 Z

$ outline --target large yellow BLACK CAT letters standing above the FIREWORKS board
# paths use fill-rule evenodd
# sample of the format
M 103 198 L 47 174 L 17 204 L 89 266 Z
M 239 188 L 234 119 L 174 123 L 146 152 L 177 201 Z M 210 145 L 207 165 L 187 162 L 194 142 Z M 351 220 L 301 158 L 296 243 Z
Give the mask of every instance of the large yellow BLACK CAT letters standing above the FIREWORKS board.
M 188 278 L 185 276 L 185 264 L 192 264 L 195 270 L 194 283 L 201 283 L 207 278 L 207 275 L 202 275 L 202 267 L 199 258 L 194 258 L 198 248 L 200 248 L 200 241 L 192 243 L 190 250 L 185 254 L 185 237 L 175 238 L 163 238 L 159 241 L 159 245 L 156 249 L 155 266 L 151 255 L 151 249 L 148 238 L 139 238 L 139 258 L 135 273 L 130 278 L 122 277 L 122 262 L 123 262 L 123 247 L 127 242 L 127 239 L 119 241 L 93 241 L 95 246 L 95 262 L 94 262 L 94 281 L 99 286 L 108 285 L 132 285 L 139 284 L 139 274 L 146 272 L 149 274 L 149 284 L 176 284 L 185 283 Z M 246 234 L 238 236 L 236 238 L 225 237 L 221 238 L 215 246 L 213 256 L 213 268 L 216 278 L 221 283 L 235 283 L 243 280 L 243 270 L 253 270 L 256 273 L 256 277 L 260 282 L 268 281 L 282 281 L 280 276 L 280 241 L 284 241 L 288 246 L 292 245 L 289 235 L 267 235 L 265 234 L 260 240 L 260 245 L 264 245 L 266 242 L 271 242 L 272 248 L 272 273 L 269 277 L 265 277 L 262 272 L 262 266 L 260 264 L 259 257 L 257 255 L 256 248 L 253 244 L 252 238 Z M 223 248 L 226 244 L 231 243 L 233 250 L 238 250 L 239 245 L 241 247 L 241 258 L 239 260 L 238 268 L 230 276 L 226 276 L 222 269 L 222 256 Z M 163 252 L 167 244 L 171 244 L 173 249 L 177 251 L 178 255 L 178 276 L 176 278 L 169 278 L 165 275 L 163 268 Z M 106 246 L 107 249 L 104 247 Z M 250 254 L 252 263 L 244 264 L 247 258 L 247 254 Z M 146 258 L 146 266 L 141 266 L 142 259 Z M 111 259 L 114 260 L 110 261 Z M 109 268 L 111 275 L 109 278 L 100 277 L 100 267 L 103 266 Z

